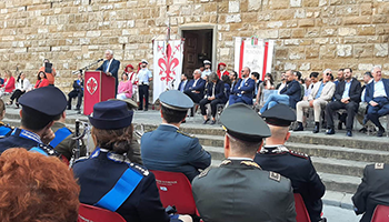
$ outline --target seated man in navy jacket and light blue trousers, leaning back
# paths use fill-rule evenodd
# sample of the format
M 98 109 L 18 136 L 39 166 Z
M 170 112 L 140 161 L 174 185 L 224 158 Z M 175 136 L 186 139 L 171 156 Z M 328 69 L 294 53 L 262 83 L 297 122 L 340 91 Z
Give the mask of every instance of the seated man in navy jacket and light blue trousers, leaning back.
M 259 111 L 260 113 L 263 113 L 266 110 L 275 107 L 278 103 L 287 104 L 292 109 L 296 109 L 296 103 L 300 101 L 301 98 L 300 83 L 295 80 L 295 75 L 291 70 L 285 73 L 285 79 L 287 82 L 280 90 L 280 94 L 271 94 Z

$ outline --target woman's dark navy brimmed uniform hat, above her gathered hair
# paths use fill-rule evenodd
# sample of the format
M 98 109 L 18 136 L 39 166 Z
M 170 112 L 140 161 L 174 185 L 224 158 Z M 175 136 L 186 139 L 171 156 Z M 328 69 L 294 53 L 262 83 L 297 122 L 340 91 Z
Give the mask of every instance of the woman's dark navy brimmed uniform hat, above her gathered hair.
M 97 129 L 117 130 L 131 124 L 133 111 L 129 111 L 123 101 L 104 101 L 96 103 L 89 122 Z

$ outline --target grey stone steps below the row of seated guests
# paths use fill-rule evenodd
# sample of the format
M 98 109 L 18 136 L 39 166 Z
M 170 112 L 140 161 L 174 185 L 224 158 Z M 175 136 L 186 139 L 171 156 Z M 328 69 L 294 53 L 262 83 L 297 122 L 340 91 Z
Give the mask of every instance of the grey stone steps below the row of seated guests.
M 158 127 L 159 113 L 148 117 L 150 113 L 136 112 L 134 124 L 144 125 L 146 131 Z M 87 117 L 69 114 L 67 124 L 74 128 L 74 120 L 88 121 Z M 153 119 L 151 121 L 151 119 Z M 198 117 L 199 118 L 199 117 Z M 7 113 L 4 122 L 19 125 L 19 114 Z M 202 147 L 212 155 L 212 167 L 217 167 L 225 159 L 223 130 L 219 125 L 202 125 L 200 119 L 181 125 L 182 131 L 197 137 Z M 351 195 L 356 192 L 363 168 L 375 162 L 388 162 L 389 139 L 376 138 L 355 132 L 355 137 L 345 137 L 345 131 L 335 135 L 326 135 L 323 132 L 313 134 L 309 129 L 303 132 L 291 132 L 287 148 L 297 152 L 303 152 L 311 157 L 315 168 L 326 184 L 327 192 L 325 203 L 352 209 Z

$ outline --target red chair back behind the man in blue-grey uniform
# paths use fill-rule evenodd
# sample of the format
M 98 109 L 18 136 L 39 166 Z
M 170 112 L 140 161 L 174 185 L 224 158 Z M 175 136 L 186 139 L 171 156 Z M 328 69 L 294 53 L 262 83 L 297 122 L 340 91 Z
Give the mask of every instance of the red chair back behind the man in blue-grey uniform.
M 163 208 L 176 205 L 177 213 L 196 215 L 192 185 L 183 173 L 156 171 L 157 186 Z

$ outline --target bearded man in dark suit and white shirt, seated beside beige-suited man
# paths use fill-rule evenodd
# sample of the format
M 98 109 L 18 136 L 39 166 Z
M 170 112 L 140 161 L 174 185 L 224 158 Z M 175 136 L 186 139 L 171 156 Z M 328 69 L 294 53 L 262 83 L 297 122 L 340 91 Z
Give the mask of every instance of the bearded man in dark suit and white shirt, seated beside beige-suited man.
M 335 134 L 333 114 L 339 109 L 347 110 L 346 130 L 347 137 L 352 137 L 353 118 L 358 112 L 360 101 L 360 82 L 352 78 L 351 68 L 345 69 L 345 81 L 339 82 L 335 90 L 335 101 L 326 107 L 327 134 Z

